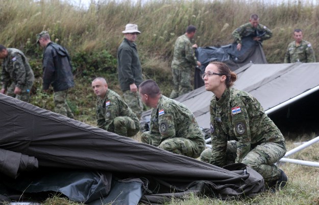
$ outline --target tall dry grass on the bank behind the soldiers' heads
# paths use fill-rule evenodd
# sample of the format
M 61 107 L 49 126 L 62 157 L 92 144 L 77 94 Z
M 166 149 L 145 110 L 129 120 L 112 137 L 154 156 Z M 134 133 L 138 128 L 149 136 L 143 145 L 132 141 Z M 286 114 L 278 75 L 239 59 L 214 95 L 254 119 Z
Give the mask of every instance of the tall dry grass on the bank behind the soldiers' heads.
M 260 23 L 274 33 L 264 42 L 269 63 L 283 62 L 293 28 L 302 28 L 319 56 L 319 6 L 308 1 L 275 5 L 262 0 L 107 0 L 84 10 L 58 0 L 0 0 L 0 10 L 0 42 L 22 50 L 35 48 L 35 34 L 47 30 L 71 53 L 106 49 L 115 56 L 125 24 L 136 23 L 142 32 L 137 43 L 143 62 L 154 57 L 169 62 L 174 42 L 187 25 L 198 27 L 194 42 L 199 46 L 225 45 L 233 41 L 232 31 L 257 13 Z M 28 52 L 33 54 L 32 49 Z

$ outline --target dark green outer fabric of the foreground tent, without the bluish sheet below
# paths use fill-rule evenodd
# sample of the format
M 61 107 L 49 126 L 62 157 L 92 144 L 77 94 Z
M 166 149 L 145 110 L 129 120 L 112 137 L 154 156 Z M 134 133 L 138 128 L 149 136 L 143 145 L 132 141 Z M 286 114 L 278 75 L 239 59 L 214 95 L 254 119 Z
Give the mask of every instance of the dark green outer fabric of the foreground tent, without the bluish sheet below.
M 44 167 L 110 172 L 120 179 L 143 179 L 141 200 L 148 203 L 190 192 L 226 199 L 264 189 L 261 175 L 244 165 L 216 167 L 2 94 L 0 114 L 2 176 L 18 179 L 21 172 Z

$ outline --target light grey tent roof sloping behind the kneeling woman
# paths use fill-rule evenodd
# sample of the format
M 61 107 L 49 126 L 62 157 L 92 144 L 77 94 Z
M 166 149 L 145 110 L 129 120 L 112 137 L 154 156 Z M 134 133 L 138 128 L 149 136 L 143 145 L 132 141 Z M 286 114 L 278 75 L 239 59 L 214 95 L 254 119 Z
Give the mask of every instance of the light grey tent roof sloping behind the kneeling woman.
M 252 94 L 265 111 L 319 85 L 319 63 L 248 64 L 234 72 L 238 75 L 234 87 Z M 176 100 L 190 108 L 201 127 L 209 128 L 212 96 L 202 86 Z

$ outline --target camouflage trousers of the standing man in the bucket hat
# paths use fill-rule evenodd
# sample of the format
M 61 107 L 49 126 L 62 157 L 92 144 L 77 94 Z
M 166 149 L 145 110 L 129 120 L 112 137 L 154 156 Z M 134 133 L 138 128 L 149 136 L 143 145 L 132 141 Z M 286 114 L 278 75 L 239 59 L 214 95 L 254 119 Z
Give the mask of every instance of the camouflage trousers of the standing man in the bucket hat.
M 125 102 L 129 105 L 131 110 L 136 114 L 139 120 L 142 116 L 143 104 L 138 91 L 136 93 L 133 93 L 130 90 L 124 91 L 123 96 L 124 96 Z

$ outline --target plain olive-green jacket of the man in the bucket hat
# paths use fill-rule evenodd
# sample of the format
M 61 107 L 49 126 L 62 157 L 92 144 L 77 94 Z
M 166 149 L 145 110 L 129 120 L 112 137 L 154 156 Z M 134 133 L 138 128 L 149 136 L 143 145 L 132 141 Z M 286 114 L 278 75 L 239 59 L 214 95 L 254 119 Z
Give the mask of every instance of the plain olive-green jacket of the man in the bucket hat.
M 136 44 L 124 39 L 117 50 L 118 81 L 122 91 L 130 90 L 130 84 L 136 86 L 143 81 L 142 67 Z

